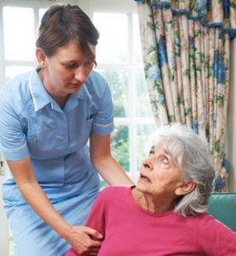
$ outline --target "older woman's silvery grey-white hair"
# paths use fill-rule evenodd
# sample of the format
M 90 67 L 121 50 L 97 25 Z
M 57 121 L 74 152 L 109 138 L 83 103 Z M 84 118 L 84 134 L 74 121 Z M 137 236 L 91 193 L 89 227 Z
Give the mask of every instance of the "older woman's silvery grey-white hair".
M 164 125 L 158 129 L 153 137 L 152 146 L 159 143 L 173 155 L 181 169 L 183 182 L 196 183 L 192 192 L 176 201 L 175 212 L 187 216 L 206 211 L 216 174 L 208 144 L 191 128 L 177 123 Z

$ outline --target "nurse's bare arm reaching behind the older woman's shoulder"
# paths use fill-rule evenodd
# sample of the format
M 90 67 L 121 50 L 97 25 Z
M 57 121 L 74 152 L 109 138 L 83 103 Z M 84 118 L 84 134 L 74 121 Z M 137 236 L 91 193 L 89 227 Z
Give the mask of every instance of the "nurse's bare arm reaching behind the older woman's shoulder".
M 110 149 L 110 136 L 98 136 L 95 133 L 90 135 L 90 155 L 95 169 L 106 183 L 133 184 L 132 180 L 113 159 Z

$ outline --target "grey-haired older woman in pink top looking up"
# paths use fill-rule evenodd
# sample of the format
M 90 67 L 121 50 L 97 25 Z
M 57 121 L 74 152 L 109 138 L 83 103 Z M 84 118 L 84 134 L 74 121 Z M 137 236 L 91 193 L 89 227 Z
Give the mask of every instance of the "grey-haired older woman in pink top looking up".
M 198 135 L 161 127 L 136 186 L 103 189 L 92 207 L 87 225 L 103 235 L 98 255 L 236 255 L 236 233 L 206 212 L 214 177 Z

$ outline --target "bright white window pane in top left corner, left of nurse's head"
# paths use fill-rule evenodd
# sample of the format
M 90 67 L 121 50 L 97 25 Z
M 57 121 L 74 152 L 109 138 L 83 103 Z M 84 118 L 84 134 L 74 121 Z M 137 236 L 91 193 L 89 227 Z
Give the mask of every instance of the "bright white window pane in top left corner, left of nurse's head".
M 33 9 L 4 7 L 3 30 L 6 60 L 34 60 Z

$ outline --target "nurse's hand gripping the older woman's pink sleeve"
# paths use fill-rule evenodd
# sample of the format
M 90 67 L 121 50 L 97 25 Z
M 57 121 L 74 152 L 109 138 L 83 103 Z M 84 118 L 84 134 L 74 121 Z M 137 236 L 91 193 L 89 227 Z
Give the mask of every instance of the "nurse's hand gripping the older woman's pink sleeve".
M 97 255 L 101 247 L 102 235 L 86 226 L 71 226 L 63 238 L 68 241 L 78 255 Z M 66 254 L 70 255 L 70 254 Z M 75 255 L 74 253 L 71 255 Z

